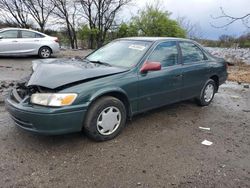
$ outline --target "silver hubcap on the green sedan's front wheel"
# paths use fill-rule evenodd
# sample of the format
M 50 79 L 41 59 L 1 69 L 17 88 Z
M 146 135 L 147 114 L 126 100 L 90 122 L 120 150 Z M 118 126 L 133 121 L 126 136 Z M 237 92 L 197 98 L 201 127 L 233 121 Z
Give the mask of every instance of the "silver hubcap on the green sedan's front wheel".
M 121 123 L 121 112 L 118 108 L 111 106 L 105 108 L 97 118 L 97 130 L 102 135 L 111 135 Z

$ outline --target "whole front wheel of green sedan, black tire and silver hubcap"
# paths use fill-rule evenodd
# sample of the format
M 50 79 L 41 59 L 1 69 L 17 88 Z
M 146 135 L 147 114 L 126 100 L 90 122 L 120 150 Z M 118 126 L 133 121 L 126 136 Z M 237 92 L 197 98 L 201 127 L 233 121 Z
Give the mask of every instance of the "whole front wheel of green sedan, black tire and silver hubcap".
M 126 117 L 126 108 L 119 99 L 102 97 L 90 106 L 83 130 L 95 141 L 110 140 L 121 132 Z

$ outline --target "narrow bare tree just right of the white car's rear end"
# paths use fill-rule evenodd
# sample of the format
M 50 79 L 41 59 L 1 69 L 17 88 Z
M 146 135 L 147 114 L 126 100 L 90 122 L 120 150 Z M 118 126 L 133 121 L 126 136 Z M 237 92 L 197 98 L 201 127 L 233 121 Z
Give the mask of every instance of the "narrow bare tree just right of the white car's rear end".
M 61 24 L 65 24 L 67 28 L 68 38 L 70 40 L 71 48 L 78 48 L 76 35 L 76 17 L 77 5 L 76 1 L 71 0 L 51 0 L 55 9 L 53 14 L 59 19 Z

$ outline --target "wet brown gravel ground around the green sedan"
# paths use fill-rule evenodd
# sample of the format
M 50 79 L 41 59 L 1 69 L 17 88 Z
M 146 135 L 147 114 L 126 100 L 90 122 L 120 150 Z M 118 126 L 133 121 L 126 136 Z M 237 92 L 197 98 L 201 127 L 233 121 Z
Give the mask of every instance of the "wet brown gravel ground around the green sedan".
M 29 74 L 32 59 L 1 58 L 2 83 Z M 233 82 L 208 107 L 185 101 L 138 115 L 104 143 L 24 132 L 0 103 L 0 187 L 249 187 L 249 122 L 250 89 Z

